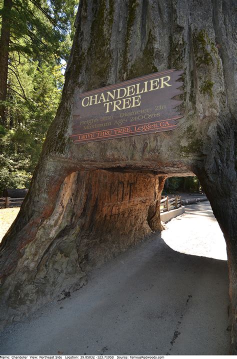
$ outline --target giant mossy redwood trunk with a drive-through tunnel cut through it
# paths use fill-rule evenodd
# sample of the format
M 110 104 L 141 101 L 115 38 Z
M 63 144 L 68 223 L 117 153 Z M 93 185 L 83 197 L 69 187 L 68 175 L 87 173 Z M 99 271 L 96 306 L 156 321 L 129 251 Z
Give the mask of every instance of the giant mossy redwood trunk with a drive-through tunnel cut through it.
M 164 178 L 194 173 L 226 240 L 235 351 L 233 7 L 232 0 L 80 0 L 61 103 L 1 245 L 3 323 L 78 289 L 92 265 L 161 229 Z M 176 129 L 73 143 L 79 93 L 167 68 L 183 70 Z

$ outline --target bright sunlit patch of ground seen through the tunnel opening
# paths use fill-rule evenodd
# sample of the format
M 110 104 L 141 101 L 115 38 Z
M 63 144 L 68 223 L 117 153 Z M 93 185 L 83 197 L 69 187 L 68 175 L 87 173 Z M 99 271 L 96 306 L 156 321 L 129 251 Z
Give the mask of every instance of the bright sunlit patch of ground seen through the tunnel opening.
M 186 205 L 185 212 L 166 226 L 162 238 L 170 248 L 185 254 L 227 260 L 223 233 L 208 201 Z

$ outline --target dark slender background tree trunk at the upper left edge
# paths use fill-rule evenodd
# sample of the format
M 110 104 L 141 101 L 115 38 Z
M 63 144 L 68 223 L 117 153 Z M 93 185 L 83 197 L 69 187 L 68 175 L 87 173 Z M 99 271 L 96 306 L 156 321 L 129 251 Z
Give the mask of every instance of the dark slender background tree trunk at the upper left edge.
M 9 41 L 10 41 L 10 11 L 12 0 L 4 0 L 1 20 L 1 37 L 0 37 L 0 101 L 6 100 L 7 95 L 7 73 L 9 58 Z M 6 115 L 5 106 L 0 103 L 0 123 L 5 126 Z

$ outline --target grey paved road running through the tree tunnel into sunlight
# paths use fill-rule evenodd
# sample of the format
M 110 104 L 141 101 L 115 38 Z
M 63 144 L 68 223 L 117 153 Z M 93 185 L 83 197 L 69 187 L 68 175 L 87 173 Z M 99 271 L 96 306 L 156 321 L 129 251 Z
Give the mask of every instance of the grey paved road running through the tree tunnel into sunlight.
M 0 354 L 227 354 L 226 261 L 193 255 L 224 248 L 209 203 L 188 206 L 167 227 L 168 244 L 152 235 L 70 298 L 5 329 Z

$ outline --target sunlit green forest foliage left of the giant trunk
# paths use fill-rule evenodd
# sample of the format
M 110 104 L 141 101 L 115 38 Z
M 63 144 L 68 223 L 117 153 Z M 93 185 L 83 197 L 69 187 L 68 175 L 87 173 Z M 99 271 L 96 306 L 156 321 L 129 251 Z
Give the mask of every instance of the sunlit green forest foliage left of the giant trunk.
M 28 187 L 61 96 L 77 0 L 15 0 L 5 126 L 0 125 L 0 195 Z M 0 0 L 0 16 L 4 11 Z M 1 25 L 1 22 L 0 22 Z

